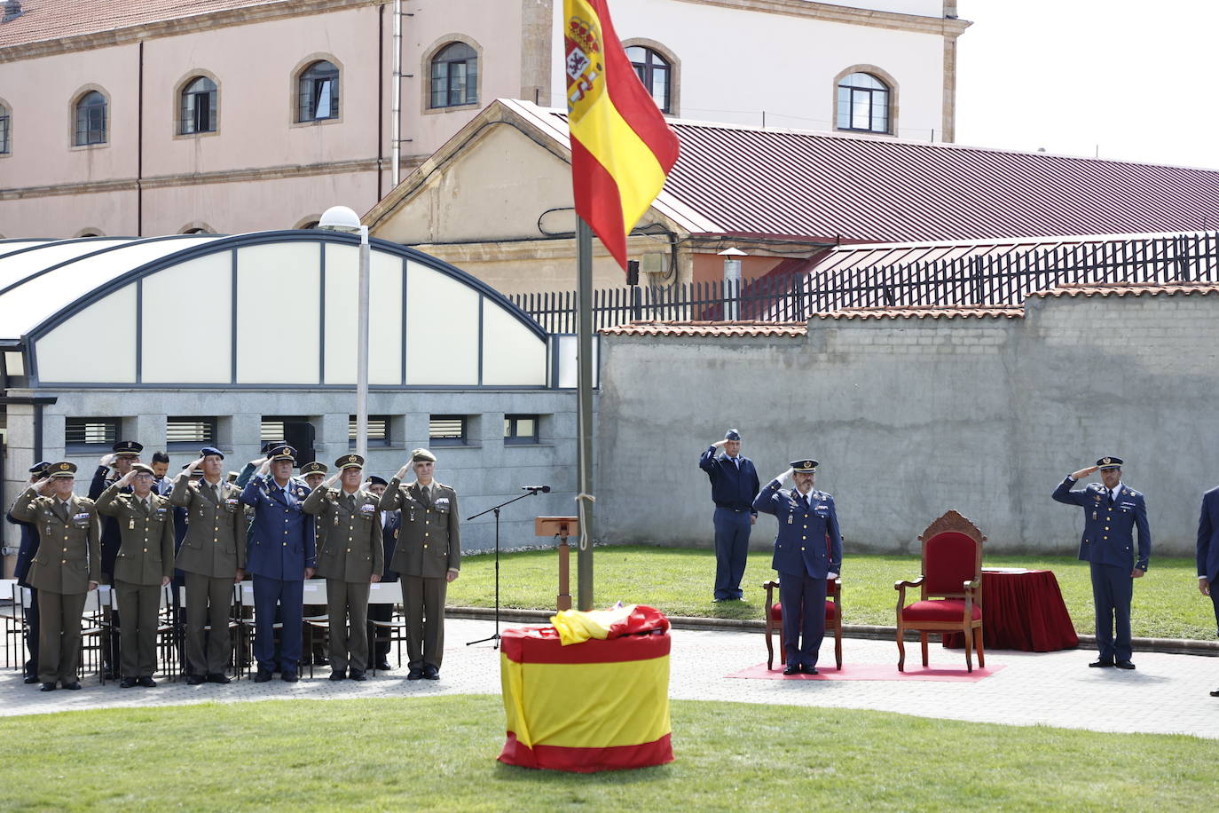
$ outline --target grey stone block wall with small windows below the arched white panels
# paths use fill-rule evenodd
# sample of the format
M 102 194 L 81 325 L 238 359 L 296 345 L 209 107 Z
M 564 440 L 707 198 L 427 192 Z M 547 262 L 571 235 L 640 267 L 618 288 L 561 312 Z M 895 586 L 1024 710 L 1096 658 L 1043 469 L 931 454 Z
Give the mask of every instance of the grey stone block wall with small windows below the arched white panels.
M 10 390 L 9 395 L 30 395 Z M 169 416 L 219 417 L 219 447 L 232 470 L 256 457 L 263 416 L 307 416 L 317 439 L 319 461 L 333 464 L 347 452 L 347 416 L 355 408 L 351 391 L 328 390 L 49 390 L 37 395 L 57 396 L 45 407 L 43 455 L 45 460 L 69 460 L 79 467 L 77 492 L 85 494 L 106 450 L 83 455 L 67 452 L 63 427 L 67 417 L 123 418 L 124 439 L 145 445 L 144 460 L 165 450 L 166 418 Z M 391 446 L 371 447 L 367 472 L 393 477 L 407 461 L 410 450 L 429 446 L 428 419 L 432 414 L 471 416 L 466 446 L 432 446 L 439 458 L 436 479 L 457 490 L 461 516 L 468 517 L 523 494 L 522 485 L 547 484 L 551 494 L 530 496 L 501 512 L 500 541 L 503 547 L 550 544 L 534 536 L 533 518 L 539 514 L 574 513 L 575 495 L 575 395 L 552 390 L 373 390 L 369 413 L 391 416 Z M 505 445 L 505 414 L 540 414 L 536 445 Z M 33 407 L 9 407 L 9 449 L 4 472 L 4 499 L 11 503 L 23 488 L 33 464 Z M 197 457 L 197 450 L 169 450 L 171 474 Z M 9 505 L 5 505 L 7 509 Z M 0 523 L 0 538 L 16 547 L 20 533 Z M 462 523 L 462 546 L 467 551 L 495 545 L 494 516 Z M 11 563 L 5 573 L 11 572 Z M 557 566 L 556 566 L 557 567 Z M 557 570 L 556 570 L 557 573 Z

